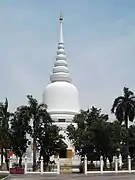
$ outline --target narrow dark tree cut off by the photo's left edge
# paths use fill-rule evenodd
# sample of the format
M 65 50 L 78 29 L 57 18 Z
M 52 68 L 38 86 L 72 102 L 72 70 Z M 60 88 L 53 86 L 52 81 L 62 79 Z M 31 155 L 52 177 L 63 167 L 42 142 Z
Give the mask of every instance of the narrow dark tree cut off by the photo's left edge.
M 9 120 L 11 115 L 12 114 L 8 111 L 8 100 L 6 98 L 4 103 L 0 103 L 0 148 L 2 166 L 4 154 L 7 170 L 9 170 L 7 149 L 10 148 Z

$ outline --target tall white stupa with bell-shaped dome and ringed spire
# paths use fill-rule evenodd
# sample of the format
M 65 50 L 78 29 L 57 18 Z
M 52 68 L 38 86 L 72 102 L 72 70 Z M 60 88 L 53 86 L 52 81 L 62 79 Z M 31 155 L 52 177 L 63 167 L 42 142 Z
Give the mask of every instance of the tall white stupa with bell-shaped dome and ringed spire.
M 73 117 L 79 113 L 78 90 L 72 84 L 63 41 L 63 16 L 60 15 L 60 38 L 58 42 L 56 61 L 50 76 L 50 83 L 45 87 L 43 103 L 48 106 L 48 112 L 54 124 L 62 128 L 65 143 L 71 144 L 66 136 L 66 128 L 72 123 Z

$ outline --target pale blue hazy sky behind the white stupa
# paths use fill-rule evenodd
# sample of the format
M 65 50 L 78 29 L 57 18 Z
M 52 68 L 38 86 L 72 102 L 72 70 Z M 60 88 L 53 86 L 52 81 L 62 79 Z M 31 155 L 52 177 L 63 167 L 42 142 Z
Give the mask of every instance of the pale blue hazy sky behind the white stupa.
M 55 61 L 59 14 L 81 108 L 110 113 L 128 86 L 135 92 L 134 0 L 1 0 L 0 100 L 10 110 L 33 94 L 41 101 Z

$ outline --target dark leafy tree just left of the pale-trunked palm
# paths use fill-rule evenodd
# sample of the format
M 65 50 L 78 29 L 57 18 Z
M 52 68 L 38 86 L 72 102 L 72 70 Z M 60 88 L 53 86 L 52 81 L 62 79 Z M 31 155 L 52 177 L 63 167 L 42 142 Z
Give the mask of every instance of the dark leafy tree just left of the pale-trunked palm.
M 19 157 L 19 166 L 22 165 L 22 156 L 27 150 L 27 133 L 30 132 L 30 126 L 28 121 L 27 107 L 20 106 L 14 113 L 11 119 L 11 147 L 16 156 Z

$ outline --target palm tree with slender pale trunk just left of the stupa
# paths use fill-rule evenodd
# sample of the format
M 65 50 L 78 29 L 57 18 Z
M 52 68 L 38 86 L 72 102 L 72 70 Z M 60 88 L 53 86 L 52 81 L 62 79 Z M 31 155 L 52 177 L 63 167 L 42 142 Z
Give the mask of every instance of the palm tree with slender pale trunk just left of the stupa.
M 37 152 L 37 134 L 40 130 L 40 122 L 43 119 L 47 119 L 50 123 L 52 123 L 52 119 L 47 113 L 47 106 L 45 104 L 39 104 L 36 99 L 32 97 L 32 95 L 28 95 L 28 112 L 30 120 L 33 122 L 32 126 L 32 137 L 33 137 L 33 171 L 36 170 L 36 152 Z

